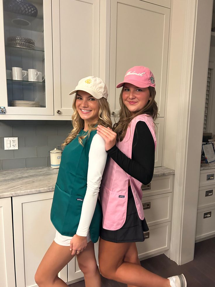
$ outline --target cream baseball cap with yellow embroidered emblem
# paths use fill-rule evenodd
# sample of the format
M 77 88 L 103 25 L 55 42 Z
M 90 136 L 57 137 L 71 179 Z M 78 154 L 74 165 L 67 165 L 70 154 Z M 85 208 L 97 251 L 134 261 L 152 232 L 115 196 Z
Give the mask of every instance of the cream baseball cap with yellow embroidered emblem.
M 91 94 L 96 99 L 101 99 L 102 97 L 108 99 L 108 88 L 103 82 L 102 79 L 96 76 L 88 76 L 81 79 L 78 82 L 78 85 L 75 87 L 75 90 L 70 92 L 70 95 L 74 94 L 78 90 L 87 92 Z

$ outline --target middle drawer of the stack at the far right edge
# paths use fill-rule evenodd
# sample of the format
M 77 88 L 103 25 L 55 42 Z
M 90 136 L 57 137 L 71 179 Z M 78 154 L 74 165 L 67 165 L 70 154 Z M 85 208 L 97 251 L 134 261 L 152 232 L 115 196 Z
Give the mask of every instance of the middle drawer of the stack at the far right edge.
M 198 209 L 215 206 L 215 185 L 199 188 Z

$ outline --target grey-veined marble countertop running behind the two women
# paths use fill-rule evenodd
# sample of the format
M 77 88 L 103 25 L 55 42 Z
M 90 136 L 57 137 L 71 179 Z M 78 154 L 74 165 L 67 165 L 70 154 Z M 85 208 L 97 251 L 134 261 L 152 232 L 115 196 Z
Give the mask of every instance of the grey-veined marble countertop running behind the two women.
M 173 169 L 155 167 L 154 177 L 174 174 Z M 0 198 L 53 191 L 58 169 L 36 167 L 0 171 Z

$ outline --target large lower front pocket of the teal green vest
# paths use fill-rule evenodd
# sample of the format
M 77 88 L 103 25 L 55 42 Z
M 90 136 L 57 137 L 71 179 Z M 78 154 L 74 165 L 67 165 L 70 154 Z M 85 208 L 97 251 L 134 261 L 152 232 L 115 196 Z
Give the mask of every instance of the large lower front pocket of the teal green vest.
M 78 228 L 84 197 L 70 195 L 56 184 L 51 221 L 61 235 L 73 236 Z

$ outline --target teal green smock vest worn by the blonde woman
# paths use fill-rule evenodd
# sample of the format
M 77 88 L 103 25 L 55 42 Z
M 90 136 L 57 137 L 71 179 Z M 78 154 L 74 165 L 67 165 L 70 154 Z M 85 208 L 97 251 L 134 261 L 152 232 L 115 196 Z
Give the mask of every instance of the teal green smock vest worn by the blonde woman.
M 96 130 L 91 131 L 89 138 L 83 140 L 84 146 L 79 144 L 77 136 L 62 153 L 51 207 L 51 221 L 62 235 L 73 236 L 78 228 L 87 188 L 89 150 L 95 134 Z M 90 224 L 91 240 L 94 243 L 98 241 L 101 220 L 102 210 L 97 200 Z

